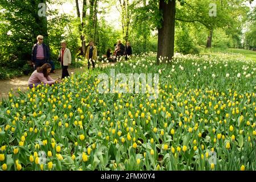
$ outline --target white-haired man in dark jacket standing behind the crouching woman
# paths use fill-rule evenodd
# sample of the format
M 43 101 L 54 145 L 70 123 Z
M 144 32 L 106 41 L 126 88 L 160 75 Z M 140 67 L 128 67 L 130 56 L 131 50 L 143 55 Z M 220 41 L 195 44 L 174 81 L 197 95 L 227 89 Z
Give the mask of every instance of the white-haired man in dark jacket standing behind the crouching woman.
M 43 43 L 44 37 L 38 35 L 36 39 L 38 42 L 33 46 L 31 54 L 32 64 L 35 70 L 38 67 L 42 67 L 44 63 L 48 63 L 50 57 L 49 48 Z

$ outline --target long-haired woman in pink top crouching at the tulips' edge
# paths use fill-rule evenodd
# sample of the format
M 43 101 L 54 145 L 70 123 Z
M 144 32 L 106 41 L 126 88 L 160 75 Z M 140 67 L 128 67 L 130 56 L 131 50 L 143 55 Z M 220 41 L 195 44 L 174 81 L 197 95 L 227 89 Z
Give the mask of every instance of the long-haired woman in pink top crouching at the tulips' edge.
M 52 85 L 55 82 L 58 82 L 60 78 L 57 78 L 56 80 L 53 80 L 50 76 L 49 73 L 51 72 L 51 64 L 46 63 L 42 65 L 42 67 L 36 68 L 36 70 L 32 73 L 30 78 L 28 79 L 28 86 L 30 88 L 33 88 L 33 85 L 38 86 L 40 84 L 46 85 Z

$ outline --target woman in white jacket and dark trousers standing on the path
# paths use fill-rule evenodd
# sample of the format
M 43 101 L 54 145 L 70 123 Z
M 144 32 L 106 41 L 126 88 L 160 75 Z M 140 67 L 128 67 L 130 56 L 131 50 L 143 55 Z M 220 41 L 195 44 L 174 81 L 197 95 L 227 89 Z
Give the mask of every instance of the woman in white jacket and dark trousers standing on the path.
M 61 60 L 60 64 L 62 68 L 62 75 L 61 75 L 61 79 L 62 79 L 62 78 L 65 78 L 66 76 L 69 76 L 68 66 L 71 65 L 71 61 L 72 61 L 71 52 L 67 48 L 66 42 L 61 42 L 59 58 Z

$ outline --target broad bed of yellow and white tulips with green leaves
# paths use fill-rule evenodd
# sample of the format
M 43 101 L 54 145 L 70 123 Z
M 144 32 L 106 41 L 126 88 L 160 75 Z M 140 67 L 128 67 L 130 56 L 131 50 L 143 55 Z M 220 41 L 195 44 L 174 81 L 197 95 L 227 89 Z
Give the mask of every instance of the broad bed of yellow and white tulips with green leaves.
M 0 102 L 0 170 L 256 170 L 255 61 L 155 61 L 148 53 L 10 91 Z M 98 75 L 110 69 L 158 73 L 158 98 L 99 93 Z

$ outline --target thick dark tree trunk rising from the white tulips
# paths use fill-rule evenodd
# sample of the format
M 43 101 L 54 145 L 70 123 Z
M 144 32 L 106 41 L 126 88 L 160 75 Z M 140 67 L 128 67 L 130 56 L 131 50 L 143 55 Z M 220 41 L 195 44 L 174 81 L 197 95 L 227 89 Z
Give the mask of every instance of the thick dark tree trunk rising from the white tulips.
M 158 55 L 156 63 L 159 64 L 159 57 L 172 59 L 174 56 L 174 31 L 175 31 L 175 5 L 176 0 L 159 0 L 159 9 L 163 13 L 162 27 L 158 28 Z

